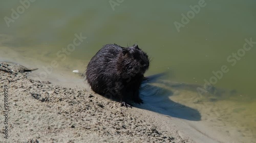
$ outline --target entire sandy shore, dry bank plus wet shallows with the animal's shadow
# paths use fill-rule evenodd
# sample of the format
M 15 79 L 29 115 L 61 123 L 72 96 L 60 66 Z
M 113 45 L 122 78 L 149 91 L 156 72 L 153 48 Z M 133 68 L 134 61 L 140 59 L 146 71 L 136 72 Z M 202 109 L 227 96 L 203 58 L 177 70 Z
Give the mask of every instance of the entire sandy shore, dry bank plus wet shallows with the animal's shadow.
M 198 97 L 196 84 L 157 80 L 152 75 L 141 86 L 144 104 L 125 108 L 95 94 L 81 73 L 72 73 L 84 71 L 82 61 L 66 60 L 44 77 L 44 67 L 51 62 L 47 57 L 35 59 L 8 47 L 1 49 L 1 111 L 6 111 L 5 88 L 9 107 L 8 139 L 6 117 L 1 116 L 0 142 L 253 142 L 253 132 L 246 126 L 238 128 L 236 114 L 231 114 L 243 106 L 213 102 L 216 95 Z M 38 69 L 20 70 L 24 68 Z

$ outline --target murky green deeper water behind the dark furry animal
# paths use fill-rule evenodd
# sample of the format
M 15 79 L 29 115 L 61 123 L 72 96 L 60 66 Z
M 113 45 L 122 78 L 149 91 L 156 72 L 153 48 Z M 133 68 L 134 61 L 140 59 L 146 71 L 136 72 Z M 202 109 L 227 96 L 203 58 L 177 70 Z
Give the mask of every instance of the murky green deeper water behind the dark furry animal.
M 75 34 L 87 38 L 66 56 L 69 61 L 84 61 L 79 66 L 86 66 L 104 44 L 137 42 L 152 59 L 147 75 L 167 71 L 169 80 L 200 85 L 226 65 L 228 72 L 216 78 L 215 87 L 236 90 L 225 98 L 227 103 L 243 105 L 248 115 L 256 115 L 256 44 L 242 53 L 245 39 L 256 41 L 256 1 L 112 2 L 31 0 L 24 10 L 18 1 L 0 2 L 0 44 L 42 62 L 54 59 L 60 68 L 67 61 L 57 53 L 73 43 Z M 187 15 L 190 5 L 198 5 L 200 11 L 177 30 L 175 21 L 182 24 L 182 13 Z M 238 50 L 244 54 L 239 60 L 227 60 Z M 256 121 L 245 122 L 239 112 L 237 122 L 256 132 Z

